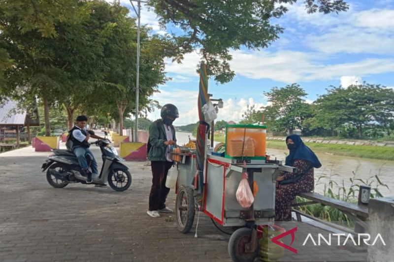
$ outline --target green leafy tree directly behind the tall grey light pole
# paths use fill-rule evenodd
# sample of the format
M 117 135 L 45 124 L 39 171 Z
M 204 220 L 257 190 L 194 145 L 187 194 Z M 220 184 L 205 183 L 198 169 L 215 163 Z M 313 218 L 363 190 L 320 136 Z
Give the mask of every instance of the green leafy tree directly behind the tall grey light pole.
M 104 73 L 103 85 L 97 92 L 106 99 L 100 103 L 103 111 L 117 119 L 123 126 L 125 116 L 135 111 L 135 72 L 136 72 L 136 38 L 135 21 L 128 16 L 129 9 L 114 3 L 105 12 L 101 21 L 114 25 L 108 41 L 104 45 L 103 63 L 107 70 Z M 146 114 L 157 103 L 149 97 L 158 91 L 158 85 L 164 84 L 164 40 L 157 35 L 149 35 L 150 29 L 141 27 L 140 42 L 140 74 L 139 77 L 139 114 Z M 99 100 L 99 99 L 98 99 Z M 101 106 L 102 107 L 102 106 Z M 118 116 L 115 116 L 117 112 Z M 122 135 L 122 128 L 120 134 Z

